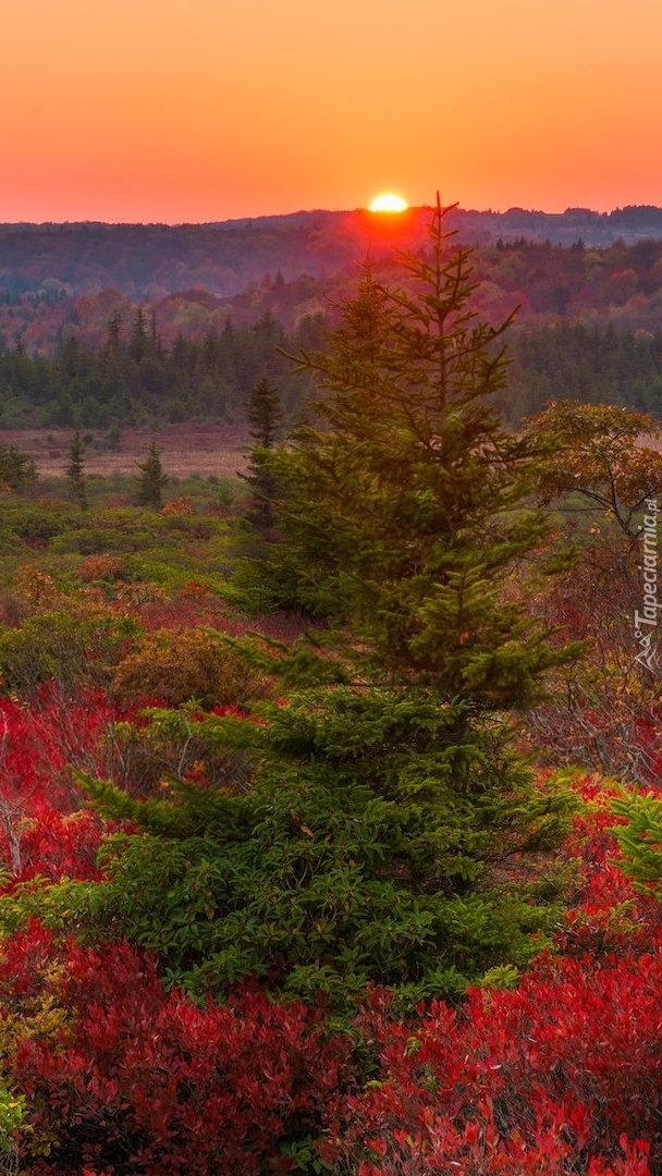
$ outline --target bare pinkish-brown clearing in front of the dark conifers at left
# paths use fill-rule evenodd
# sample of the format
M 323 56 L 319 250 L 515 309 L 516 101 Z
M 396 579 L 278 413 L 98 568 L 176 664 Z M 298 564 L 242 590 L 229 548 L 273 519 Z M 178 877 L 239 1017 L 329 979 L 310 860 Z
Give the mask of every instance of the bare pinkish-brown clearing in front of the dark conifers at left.
M 0 446 L 14 446 L 36 463 L 42 477 L 63 476 L 73 429 L 2 429 Z M 233 426 L 168 425 L 162 429 L 127 429 L 116 452 L 86 446 L 88 475 L 108 477 L 135 474 L 152 442 L 161 449 L 165 473 L 170 477 L 234 477 L 246 467 L 242 450 L 249 445 L 243 429 Z

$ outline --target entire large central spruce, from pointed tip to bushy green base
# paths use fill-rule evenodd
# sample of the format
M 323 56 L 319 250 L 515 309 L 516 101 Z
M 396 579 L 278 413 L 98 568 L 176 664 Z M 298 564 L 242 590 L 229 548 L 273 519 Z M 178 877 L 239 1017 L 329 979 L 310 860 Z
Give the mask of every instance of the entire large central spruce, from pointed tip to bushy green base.
M 85 918 L 196 996 L 253 976 L 349 1010 L 372 982 L 410 1007 L 513 978 L 559 917 L 570 800 L 537 786 L 509 711 L 573 652 L 508 595 L 547 524 L 526 506 L 530 447 L 490 405 L 507 323 L 474 315 L 443 215 L 403 288 L 367 269 L 329 350 L 301 356 L 321 400 L 277 450 L 275 550 L 334 623 L 316 646 L 242 644 L 286 706 L 195 720 L 240 757 L 235 789 L 179 781 L 143 803 L 88 782 L 143 833 L 80 884 Z M 75 917 L 75 888 L 61 897 Z

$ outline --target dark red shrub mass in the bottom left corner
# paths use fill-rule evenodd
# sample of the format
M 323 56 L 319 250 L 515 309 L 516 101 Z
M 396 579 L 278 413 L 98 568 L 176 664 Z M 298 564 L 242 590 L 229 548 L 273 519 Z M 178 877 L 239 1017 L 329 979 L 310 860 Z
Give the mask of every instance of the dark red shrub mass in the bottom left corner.
M 68 943 L 51 970 L 47 955 L 48 937 L 33 927 L 7 946 L 0 969 L 0 994 L 12 980 L 28 990 L 29 971 L 31 995 L 52 990 L 68 1016 L 55 1034 L 33 1025 L 15 1048 L 33 1138 L 58 1141 L 52 1156 L 33 1158 L 33 1176 L 79 1176 L 83 1165 L 132 1176 L 295 1167 L 281 1147 L 319 1130 L 347 1076 L 347 1038 L 325 1040 L 317 1014 L 258 993 L 198 1008 L 167 994 L 153 961 L 127 946 Z

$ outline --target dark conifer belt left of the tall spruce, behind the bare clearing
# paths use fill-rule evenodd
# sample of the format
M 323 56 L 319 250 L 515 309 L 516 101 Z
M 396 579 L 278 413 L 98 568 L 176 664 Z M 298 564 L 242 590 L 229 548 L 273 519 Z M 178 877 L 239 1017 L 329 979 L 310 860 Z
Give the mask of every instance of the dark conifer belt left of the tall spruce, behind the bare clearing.
M 52 358 L 29 355 L 18 339 L 0 350 L 0 426 L 103 429 L 127 425 L 236 421 L 258 380 L 279 387 L 286 416 L 294 416 L 307 382 L 286 358 L 319 342 L 323 323 L 305 319 L 293 333 L 270 315 L 248 327 L 226 320 L 203 339 L 178 334 L 162 343 L 153 319 L 139 307 L 128 327 L 111 318 L 101 347 L 65 339 Z

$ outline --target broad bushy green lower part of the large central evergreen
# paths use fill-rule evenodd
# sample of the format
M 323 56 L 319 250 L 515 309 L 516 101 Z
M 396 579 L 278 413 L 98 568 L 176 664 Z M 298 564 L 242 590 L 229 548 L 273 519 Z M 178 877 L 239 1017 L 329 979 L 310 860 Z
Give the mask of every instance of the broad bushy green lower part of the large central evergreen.
M 103 882 L 67 880 L 65 920 L 159 953 L 196 998 L 258 977 L 349 1016 L 369 982 L 410 1009 L 511 980 L 541 950 L 569 799 L 536 789 L 496 726 L 468 730 L 426 691 L 341 683 L 263 704 L 259 723 L 153 722 L 172 737 L 185 717 L 185 737 L 243 753 L 252 787 L 172 781 L 145 802 L 83 781 L 140 831 L 109 843 Z

